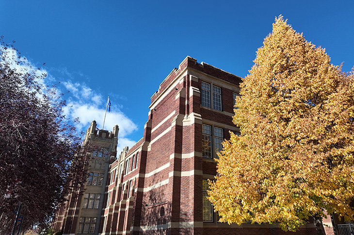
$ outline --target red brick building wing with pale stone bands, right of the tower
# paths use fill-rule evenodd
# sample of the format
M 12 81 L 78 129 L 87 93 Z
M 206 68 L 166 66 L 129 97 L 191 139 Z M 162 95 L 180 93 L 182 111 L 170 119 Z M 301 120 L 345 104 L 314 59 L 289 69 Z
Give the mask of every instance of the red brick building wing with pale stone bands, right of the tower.
M 217 222 L 207 200 L 214 158 L 233 125 L 241 78 L 187 57 L 152 95 L 144 136 L 110 166 L 102 235 L 269 234 L 277 225 Z M 299 234 L 315 234 L 313 224 Z

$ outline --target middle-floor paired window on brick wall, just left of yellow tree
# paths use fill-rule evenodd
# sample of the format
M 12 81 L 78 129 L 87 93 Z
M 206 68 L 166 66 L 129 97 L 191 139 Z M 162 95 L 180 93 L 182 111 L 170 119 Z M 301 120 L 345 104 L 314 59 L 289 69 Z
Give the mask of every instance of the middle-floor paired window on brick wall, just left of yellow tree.
M 211 132 L 213 130 L 213 132 Z M 202 156 L 212 158 L 217 157 L 215 154 L 223 149 L 222 142 L 224 141 L 224 130 L 219 127 L 213 127 L 211 125 L 202 125 Z M 214 145 L 212 145 L 212 136 L 214 137 Z M 212 151 L 213 146 L 213 151 Z

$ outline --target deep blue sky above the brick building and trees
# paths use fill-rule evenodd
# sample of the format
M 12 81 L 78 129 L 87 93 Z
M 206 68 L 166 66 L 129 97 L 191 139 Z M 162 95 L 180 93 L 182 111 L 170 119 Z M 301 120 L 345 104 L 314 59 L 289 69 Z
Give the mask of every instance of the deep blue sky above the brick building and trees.
M 344 71 L 354 66 L 352 0 L 1 0 L 0 9 L 0 34 L 70 91 L 79 129 L 93 119 L 101 128 L 110 96 L 105 129 L 119 125 L 119 152 L 143 137 L 150 97 L 186 56 L 245 77 L 275 16 Z

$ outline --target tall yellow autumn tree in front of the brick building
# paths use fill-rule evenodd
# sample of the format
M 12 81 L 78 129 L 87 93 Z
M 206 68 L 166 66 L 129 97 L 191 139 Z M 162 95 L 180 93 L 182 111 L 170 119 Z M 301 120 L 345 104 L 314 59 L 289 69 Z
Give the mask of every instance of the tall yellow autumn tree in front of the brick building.
M 324 210 L 354 219 L 354 76 L 282 16 L 243 79 L 209 200 L 221 221 L 296 231 Z M 323 229 L 322 229 L 323 230 Z

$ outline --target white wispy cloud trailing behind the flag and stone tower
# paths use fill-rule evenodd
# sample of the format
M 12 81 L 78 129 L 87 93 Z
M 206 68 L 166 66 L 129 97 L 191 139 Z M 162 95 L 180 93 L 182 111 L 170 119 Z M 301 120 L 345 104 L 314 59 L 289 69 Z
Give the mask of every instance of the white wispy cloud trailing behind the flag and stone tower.
M 27 73 L 34 71 L 35 75 L 37 76 L 48 74 L 47 70 L 45 69 L 36 69 L 36 66 L 34 66 L 34 64 L 26 58 L 18 58 L 15 49 L 8 48 L 6 50 L 6 54 L 4 54 L 4 59 L 5 61 L 9 62 L 10 66 L 16 69 L 18 72 Z M 54 75 L 55 72 L 59 72 L 65 76 L 66 79 L 64 79 L 64 81 L 63 78 L 60 78 L 61 85 L 57 87 L 56 94 L 59 95 L 61 90 L 69 90 L 69 93 L 65 94 L 65 99 L 67 99 L 67 106 L 63 108 L 64 115 L 71 120 L 74 120 L 75 118 L 80 119 L 80 123 L 76 124 L 78 131 L 85 131 L 93 120 L 96 120 L 97 127 L 102 129 L 107 100 L 105 100 L 102 95 L 99 94 L 99 92 L 93 91 L 85 83 L 81 84 L 80 82 L 75 81 L 75 76 L 79 76 L 80 78 L 84 76 L 82 73 L 70 73 L 66 68 L 51 68 L 50 71 L 53 71 L 53 74 L 48 74 L 49 79 L 40 79 L 38 82 L 44 86 L 48 85 L 46 84 L 48 83 L 48 80 L 49 83 L 58 82 L 59 79 L 57 79 Z M 119 97 L 119 95 L 116 96 Z M 107 110 L 104 124 L 104 129 L 108 131 L 113 131 L 114 125 L 119 125 L 119 140 L 117 146 L 118 155 L 125 146 L 131 147 L 133 144 L 135 144 L 135 141 L 130 140 L 128 136 L 133 131 L 137 130 L 137 126 L 123 112 L 119 110 L 122 107 L 123 106 L 118 102 L 112 104 L 111 112 L 108 112 Z

